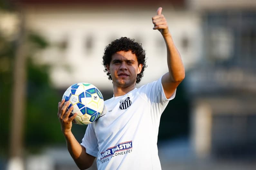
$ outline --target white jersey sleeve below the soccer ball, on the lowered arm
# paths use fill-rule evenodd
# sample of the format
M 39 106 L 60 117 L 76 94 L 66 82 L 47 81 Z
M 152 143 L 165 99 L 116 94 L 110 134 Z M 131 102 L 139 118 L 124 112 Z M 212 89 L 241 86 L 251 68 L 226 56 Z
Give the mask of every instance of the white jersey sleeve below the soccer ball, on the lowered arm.
M 87 126 L 81 145 L 85 148 L 86 153 L 94 157 L 97 157 L 99 152 L 98 141 L 93 128 L 93 123 L 90 123 Z

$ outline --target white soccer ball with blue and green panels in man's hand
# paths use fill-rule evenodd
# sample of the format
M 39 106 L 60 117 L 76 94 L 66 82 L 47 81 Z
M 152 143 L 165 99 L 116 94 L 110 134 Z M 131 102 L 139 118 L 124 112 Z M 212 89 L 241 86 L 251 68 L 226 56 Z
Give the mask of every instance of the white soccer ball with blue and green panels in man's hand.
M 73 105 L 70 116 L 77 113 L 73 123 L 84 125 L 95 122 L 102 113 L 104 100 L 97 87 L 90 83 L 71 85 L 63 94 L 62 99 L 70 101 L 68 109 Z

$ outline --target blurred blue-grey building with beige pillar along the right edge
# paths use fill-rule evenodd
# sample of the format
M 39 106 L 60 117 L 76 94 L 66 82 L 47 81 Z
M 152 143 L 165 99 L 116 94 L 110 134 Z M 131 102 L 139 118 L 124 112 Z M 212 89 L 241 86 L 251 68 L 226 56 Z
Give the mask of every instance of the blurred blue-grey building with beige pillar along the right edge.
M 187 72 L 199 156 L 256 159 L 256 1 L 192 0 L 203 57 Z

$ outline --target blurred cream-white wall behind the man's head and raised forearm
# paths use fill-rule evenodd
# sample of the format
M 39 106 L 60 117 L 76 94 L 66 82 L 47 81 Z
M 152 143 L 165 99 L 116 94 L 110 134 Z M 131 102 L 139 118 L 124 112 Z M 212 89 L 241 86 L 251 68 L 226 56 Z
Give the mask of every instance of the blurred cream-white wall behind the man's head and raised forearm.
M 178 47 L 186 69 L 201 57 L 200 19 L 196 13 L 165 10 L 174 42 Z M 51 72 L 56 87 L 68 87 L 75 82 L 90 82 L 99 88 L 111 89 L 111 81 L 103 72 L 102 55 L 112 40 L 127 36 L 142 43 L 146 50 L 147 69 L 139 85 L 156 80 L 167 72 L 166 47 L 157 30 L 153 30 L 151 17 L 156 11 L 147 9 L 122 11 L 122 9 L 92 10 L 90 8 L 27 8 L 27 26 L 40 32 L 52 44 L 36 57 L 40 63 L 54 63 Z M 92 38 L 92 49 L 85 46 Z M 187 38 L 187 41 L 184 40 Z M 67 48 L 60 50 L 56 44 L 67 41 Z M 187 47 L 182 46 L 182 42 Z M 70 66 L 69 71 L 67 66 Z

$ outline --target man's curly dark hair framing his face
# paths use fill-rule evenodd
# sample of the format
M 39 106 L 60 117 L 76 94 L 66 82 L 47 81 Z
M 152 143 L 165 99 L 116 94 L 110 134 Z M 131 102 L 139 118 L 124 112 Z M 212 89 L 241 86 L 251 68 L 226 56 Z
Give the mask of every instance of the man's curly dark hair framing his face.
M 110 64 L 112 59 L 112 55 L 119 51 L 129 51 L 131 50 L 132 54 L 137 56 L 138 64 L 142 64 L 142 70 L 139 74 L 137 74 L 136 83 L 141 81 L 143 77 L 143 72 L 146 65 L 146 53 L 145 50 L 142 48 L 141 43 L 137 43 L 134 39 L 130 39 L 127 37 L 121 37 L 111 42 L 107 47 L 105 47 L 104 55 L 103 55 L 103 65 L 105 67 L 104 72 L 107 72 L 109 76 L 109 80 L 112 80 L 110 73 L 107 71 L 107 65 Z

